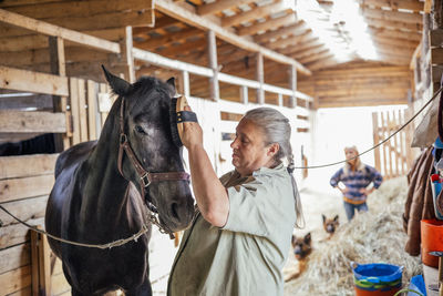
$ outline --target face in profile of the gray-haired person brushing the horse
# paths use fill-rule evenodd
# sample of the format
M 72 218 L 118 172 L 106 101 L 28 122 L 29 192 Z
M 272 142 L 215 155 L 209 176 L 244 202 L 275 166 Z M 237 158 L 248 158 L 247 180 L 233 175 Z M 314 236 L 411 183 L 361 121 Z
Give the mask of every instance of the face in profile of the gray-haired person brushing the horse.
M 276 153 L 274 145 L 265 146 L 261 130 L 250 120 L 243 119 L 236 129 L 236 137 L 230 144 L 233 165 L 243 175 L 251 175 L 254 171 L 274 165 Z

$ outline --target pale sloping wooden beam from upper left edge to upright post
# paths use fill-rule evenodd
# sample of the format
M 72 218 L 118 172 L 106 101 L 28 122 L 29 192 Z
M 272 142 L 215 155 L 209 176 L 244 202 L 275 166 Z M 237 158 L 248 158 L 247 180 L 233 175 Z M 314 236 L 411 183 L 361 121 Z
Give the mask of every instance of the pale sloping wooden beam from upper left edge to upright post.
M 73 30 L 60 28 L 58 25 L 53 25 L 51 23 L 38 21 L 34 19 L 30 19 L 13 12 L 9 12 L 7 10 L 0 9 L 0 22 L 6 22 L 12 25 L 17 25 L 20 28 L 24 28 L 38 33 L 60 37 L 65 40 L 83 44 L 91 48 L 96 48 L 114 53 L 120 53 L 120 47 L 117 43 L 110 42 L 107 40 L 99 39 L 92 35 L 86 35 L 83 33 L 79 33 Z

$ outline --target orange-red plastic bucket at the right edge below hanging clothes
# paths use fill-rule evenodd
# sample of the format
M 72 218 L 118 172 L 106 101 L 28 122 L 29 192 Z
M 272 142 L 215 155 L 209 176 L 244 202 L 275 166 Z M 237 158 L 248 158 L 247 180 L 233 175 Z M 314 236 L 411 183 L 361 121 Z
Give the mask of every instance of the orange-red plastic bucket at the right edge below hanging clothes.
M 443 252 L 443 221 L 422 220 L 420 222 L 422 238 L 422 262 L 432 267 L 439 267 L 439 257 L 429 253 L 433 251 Z

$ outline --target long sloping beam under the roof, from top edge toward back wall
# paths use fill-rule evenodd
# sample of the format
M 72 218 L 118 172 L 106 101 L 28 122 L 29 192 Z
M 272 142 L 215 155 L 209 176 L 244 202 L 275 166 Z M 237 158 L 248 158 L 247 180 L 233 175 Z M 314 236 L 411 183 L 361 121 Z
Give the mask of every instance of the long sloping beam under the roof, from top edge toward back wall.
M 223 1 L 223 2 L 225 2 L 225 1 Z M 235 2 L 238 2 L 238 1 L 235 1 Z M 293 65 L 296 65 L 297 70 L 300 71 L 301 73 L 303 73 L 306 75 L 311 74 L 311 72 L 307 68 L 301 65 L 296 60 L 289 59 L 288 57 L 279 54 L 275 51 L 270 51 L 264 47 L 257 45 L 256 43 L 254 43 L 251 41 L 247 41 L 246 39 L 225 30 L 222 27 L 215 24 L 214 22 L 212 22 L 207 19 L 204 19 L 190 11 L 187 11 L 184 8 L 177 6 L 173 2 L 169 2 L 166 0 L 156 0 L 155 8 L 157 10 L 159 10 L 161 12 L 168 14 L 173 18 L 177 18 L 178 20 L 181 20 L 189 25 L 200 28 L 203 30 L 213 30 L 216 33 L 217 38 L 219 38 L 228 43 L 231 43 L 238 48 L 241 48 L 247 51 L 253 51 L 253 52 L 261 52 L 261 54 L 269 60 L 272 60 L 272 61 L 276 61 L 279 63 L 284 63 L 284 64 L 293 64 Z

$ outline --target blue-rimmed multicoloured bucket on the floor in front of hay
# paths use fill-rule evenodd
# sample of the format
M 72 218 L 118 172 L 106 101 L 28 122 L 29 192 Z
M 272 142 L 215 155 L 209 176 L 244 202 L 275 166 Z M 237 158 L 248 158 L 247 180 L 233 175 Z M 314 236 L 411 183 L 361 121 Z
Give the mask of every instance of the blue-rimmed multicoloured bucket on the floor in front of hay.
M 403 266 L 351 262 L 357 296 L 393 296 L 402 286 Z

